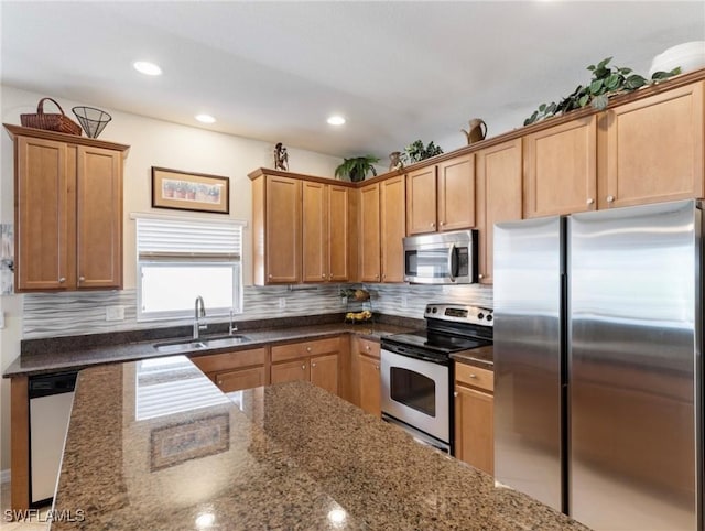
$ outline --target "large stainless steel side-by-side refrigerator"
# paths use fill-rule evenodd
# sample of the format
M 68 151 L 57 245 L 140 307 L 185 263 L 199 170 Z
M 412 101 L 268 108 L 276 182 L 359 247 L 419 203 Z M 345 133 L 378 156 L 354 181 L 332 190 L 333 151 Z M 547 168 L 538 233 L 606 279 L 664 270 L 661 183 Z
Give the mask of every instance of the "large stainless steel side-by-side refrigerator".
M 703 529 L 703 215 L 495 228 L 495 475 L 596 530 Z

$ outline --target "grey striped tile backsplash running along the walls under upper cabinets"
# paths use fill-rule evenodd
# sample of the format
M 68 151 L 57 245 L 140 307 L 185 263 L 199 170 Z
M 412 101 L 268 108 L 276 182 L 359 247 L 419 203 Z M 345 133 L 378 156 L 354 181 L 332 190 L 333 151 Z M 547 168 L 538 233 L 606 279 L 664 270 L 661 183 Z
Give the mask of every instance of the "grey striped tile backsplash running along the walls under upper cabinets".
M 360 284 L 246 286 L 243 313 L 237 321 L 317 315 L 346 311 L 341 288 Z M 426 303 L 459 302 L 492 307 L 492 289 L 479 284 L 366 284 L 375 312 L 422 318 Z M 106 321 L 107 307 L 122 307 L 124 319 Z M 206 311 L 208 301 L 206 301 Z M 213 322 L 227 317 L 214 316 Z M 206 318 L 207 321 L 207 318 Z M 23 338 L 100 334 L 191 324 L 191 319 L 137 321 L 137 291 L 33 293 L 24 295 Z

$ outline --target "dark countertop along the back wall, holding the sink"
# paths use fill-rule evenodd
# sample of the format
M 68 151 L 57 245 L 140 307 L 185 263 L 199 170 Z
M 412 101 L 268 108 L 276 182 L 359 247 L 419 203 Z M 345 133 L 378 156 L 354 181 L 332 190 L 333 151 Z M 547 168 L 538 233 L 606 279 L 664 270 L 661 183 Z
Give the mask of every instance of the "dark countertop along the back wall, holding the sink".
M 318 324 L 312 326 L 289 326 L 276 328 L 257 328 L 243 329 L 238 334 L 246 336 L 243 340 L 236 346 L 199 349 L 188 353 L 189 356 L 218 354 L 225 351 L 236 351 L 249 348 L 256 348 L 278 342 L 288 342 L 293 339 L 329 337 L 343 333 L 359 334 L 364 337 L 379 339 L 383 335 L 398 334 L 408 332 L 409 327 L 393 324 L 372 325 L 351 325 L 344 323 L 336 324 Z M 219 334 L 216 334 L 220 336 Z M 182 337 L 183 338 L 183 337 Z M 208 338 L 208 335 L 203 335 Z M 62 338 L 65 339 L 65 338 Z M 6 378 L 17 376 L 31 376 L 47 372 L 56 372 L 63 370 L 76 370 L 99 364 L 113 364 L 121 361 L 132 361 L 138 359 L 164 357 L 164 353 L 160 353 L 154 347 L 155 344 L 165 343 L 169 338 L 152 339 L 137 343 L 120 343 L 116 345 L 86 346 L 88 342 L 82 342 L 82 336 L 76 336 L 77 347 L 74 349 L 66 348 L 66 340 L 62 342 L 62 347 L 53 347 L 51 339 L 46 340 L 46 346 L 39 353 L 20 355 L 4 371 Z M 177 339 L 172 337 L 171 339 Z

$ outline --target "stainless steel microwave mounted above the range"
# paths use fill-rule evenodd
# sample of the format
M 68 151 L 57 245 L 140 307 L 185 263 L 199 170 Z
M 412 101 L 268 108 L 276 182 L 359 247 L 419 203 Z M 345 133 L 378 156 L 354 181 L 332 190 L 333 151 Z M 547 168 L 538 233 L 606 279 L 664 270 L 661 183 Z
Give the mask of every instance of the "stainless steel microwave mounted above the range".
M 477 282 L 477 230 L 404 238 L 404 280 L 415 284 Z

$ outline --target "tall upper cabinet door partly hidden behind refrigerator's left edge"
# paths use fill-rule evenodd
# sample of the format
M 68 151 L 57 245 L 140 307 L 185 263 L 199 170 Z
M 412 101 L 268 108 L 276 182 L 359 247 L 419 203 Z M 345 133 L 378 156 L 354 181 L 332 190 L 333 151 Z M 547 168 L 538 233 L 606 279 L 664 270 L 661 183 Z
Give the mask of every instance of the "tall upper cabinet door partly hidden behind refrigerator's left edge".
M 521 219 L 521 139 L 476 153 L 479 280 L 492 283 L 496 223 Z

